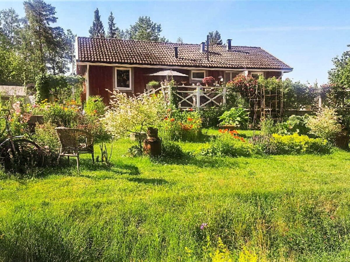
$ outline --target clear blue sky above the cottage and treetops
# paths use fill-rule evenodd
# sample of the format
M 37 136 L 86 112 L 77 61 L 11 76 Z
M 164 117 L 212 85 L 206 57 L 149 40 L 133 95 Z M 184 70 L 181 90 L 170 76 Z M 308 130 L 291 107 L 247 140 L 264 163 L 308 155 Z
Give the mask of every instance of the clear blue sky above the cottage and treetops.
M 46 1 L 56 7 L 58 26 L 88 36 L 96 7 L 107 27 L 112 11 L 117 26 L 128 28 L 139 16 L 162 25 L 175 42 L 205 41 L 218 30 L 225 42 L 260 46 L 294 68 L 285 77 L 327 82 L 331 59 L 350 44 L 350 1 Z M 22 1 L 0 1 L 0 9 L 24 15 Z

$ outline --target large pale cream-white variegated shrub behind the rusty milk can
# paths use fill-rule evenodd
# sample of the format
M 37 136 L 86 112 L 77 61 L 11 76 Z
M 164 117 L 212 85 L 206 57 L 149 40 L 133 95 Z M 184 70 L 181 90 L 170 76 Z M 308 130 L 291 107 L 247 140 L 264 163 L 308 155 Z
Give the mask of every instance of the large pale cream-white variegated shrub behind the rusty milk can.
M 101 121 L 107 132 L 118 139 L 131 132 L 146 131 L 148 126 L 157 127 L 165 114 L 165 101 L 161 93 L 136 97 L 117 90 L 113 92 L 110 107 Z

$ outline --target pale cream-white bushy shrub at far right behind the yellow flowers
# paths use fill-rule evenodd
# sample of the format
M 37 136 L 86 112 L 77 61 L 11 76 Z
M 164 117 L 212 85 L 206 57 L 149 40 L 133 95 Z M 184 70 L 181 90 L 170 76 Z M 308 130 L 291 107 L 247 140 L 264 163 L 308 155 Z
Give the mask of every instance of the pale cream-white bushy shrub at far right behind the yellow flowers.
M 310 117 L 306 126 L 310 129 L 310 134 L 334 143 L 342 131 L 342 125 L 339 122 L 340 118 L 335 109 L 324 108 L 316 113 L 316 117 Z

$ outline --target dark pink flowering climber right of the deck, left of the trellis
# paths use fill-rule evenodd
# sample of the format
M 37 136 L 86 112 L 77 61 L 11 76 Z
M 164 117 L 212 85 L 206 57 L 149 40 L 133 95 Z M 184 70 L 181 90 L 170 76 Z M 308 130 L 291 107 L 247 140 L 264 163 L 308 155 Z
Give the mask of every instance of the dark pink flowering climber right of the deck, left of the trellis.
M 257 84 L 257 80 L 250 75 L 245 76 L 239 74 L 232 80 L 228 81 L 226 83 L 226 87 L 232 87 L 242 97 L 249 100 L 250 98 L 254 97 Z

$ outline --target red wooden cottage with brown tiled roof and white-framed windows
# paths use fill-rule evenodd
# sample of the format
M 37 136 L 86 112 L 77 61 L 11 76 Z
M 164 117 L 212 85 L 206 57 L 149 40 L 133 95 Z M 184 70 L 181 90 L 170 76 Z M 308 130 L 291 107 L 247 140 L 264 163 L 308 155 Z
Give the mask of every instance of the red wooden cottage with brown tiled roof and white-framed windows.
M 172 69 L 187 76 L 177 77 L 186 85 L 212 76 L 225 82 L 237 74 L 282 77 L 293 70 L 264 49 L 252 46 L 177 44 L 106 38 L 77 38 L 77 74 L 85 77 L 82 100 L 90 95 L 104 97 L 106 89 L 142 93 L 151 80 L 165 77 L 150 75 Z M 202 83 L 203 85 L 203 83 Z

